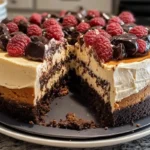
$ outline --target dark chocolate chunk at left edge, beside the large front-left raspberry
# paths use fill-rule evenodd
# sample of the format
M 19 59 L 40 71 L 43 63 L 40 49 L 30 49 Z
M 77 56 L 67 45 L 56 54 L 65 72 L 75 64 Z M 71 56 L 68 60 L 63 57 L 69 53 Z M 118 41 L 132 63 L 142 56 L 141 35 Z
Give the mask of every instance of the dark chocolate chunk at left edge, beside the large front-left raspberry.
M 2 34 L 0 35 L 0 49 L 6 51 L 7 44 L 10 40 L 9 34 Z

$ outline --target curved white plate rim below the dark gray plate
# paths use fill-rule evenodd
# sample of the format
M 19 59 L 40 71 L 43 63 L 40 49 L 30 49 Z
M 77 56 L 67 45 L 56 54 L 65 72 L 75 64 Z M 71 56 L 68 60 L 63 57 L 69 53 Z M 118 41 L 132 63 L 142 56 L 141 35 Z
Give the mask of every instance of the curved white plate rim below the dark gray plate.
M 53 146 L 53 147 L 67 147 L 67 148 L 94 148 L 94 147 L 105 147 L 105 146 L 113 146 L 118 144 L 123 144 L 126 142 L 130 142 L 133 140 L 140 139 L 142 137 L 148 136 L 150 134 L 150 127 L 146 129 L 137 131 L 135 133 L 127 134 L 124 136 L 113 137 L 110 139 L 96 139 L 96 140 L 60 140 L 60 139 L 51 139 L 40 136 L 33 136 L 27 133 L 22 133 L 20 131 L 15 131 L 13 129 L 9 129 L 0 124 L 0 133 L 6 136 L 22 140 L 25 142 L 45 145 L 45 146 Z

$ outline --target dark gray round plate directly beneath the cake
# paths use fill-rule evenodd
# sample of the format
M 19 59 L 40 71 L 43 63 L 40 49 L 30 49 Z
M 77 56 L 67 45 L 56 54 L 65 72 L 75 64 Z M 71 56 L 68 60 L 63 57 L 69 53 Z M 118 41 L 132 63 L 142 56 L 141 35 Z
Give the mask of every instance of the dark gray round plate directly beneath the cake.
M 65 119 L 68 112 L 75 113 L 79 118 L 86 120 L 94 120 L 95 115 L 85 105 L 80 103 L 78 97 L 75 97 L 72 93 L 62 98 L 55 99 L 51 104 L 52 110 L 48 113 L 47 120 L 60 120 Z M 59 129 L 53 127 L 43 127 L 39 125 L 30 125 L 19 122 L 3 113 L 0 113 L 0 123 L 17 129 L 23 132 L 27 132 L 34 135 L 53 137 L 53 138 L 64 138 L 64 139 L 92 139 L 92 138 L 110 138 L 123 134 L 129 134 L 136 132 L 137 130 L 143 129 L 150 125 L 150 117 L 146 117 L 135 122 L 135 125 L 124 125 L 115 128 L 104 128 L 87 129 L 82 131 L 70 130 L 70 129 Z M 140 127 L 136 127 L 136 124 L 140 124 Z

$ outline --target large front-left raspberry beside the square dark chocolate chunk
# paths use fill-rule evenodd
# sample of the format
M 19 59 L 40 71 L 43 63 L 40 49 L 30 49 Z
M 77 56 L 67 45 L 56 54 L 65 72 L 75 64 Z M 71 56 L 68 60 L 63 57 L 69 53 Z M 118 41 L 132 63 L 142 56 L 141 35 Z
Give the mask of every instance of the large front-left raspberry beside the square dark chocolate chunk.
M 25 48 L 30 42 L 30 38 L 25 34 L 15 35 L 7 44 L 7 52 L 12 57 L 23 56 Z

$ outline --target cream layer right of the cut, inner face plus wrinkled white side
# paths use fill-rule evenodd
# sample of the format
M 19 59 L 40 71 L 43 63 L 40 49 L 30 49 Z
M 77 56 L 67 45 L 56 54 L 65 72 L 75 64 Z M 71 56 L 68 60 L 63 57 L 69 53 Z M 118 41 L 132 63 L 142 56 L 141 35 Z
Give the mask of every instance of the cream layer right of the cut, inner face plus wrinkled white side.
M 77 59 L 87 64 L 87 67 L 97 76 L 110 83 L 110 99 L 104 98 L 105 102 L 112 104 L 138 93 L 150 84 L 150 58 L 146 57 L 140 61 L 132 60 L 118 63 L 100 64 L 93 56 L 93 50 L 85 45 L 80 47 L 76 44 Z M 92 80 L 92 79 L 89 79 Z M 93 81 L 89 81 L 89 85 Z M 94 88 L 95 89 L 95 88 Z M 98 91 L 98 90 L 96 90 Z M 103 91 L 99 90 L 102 95 Z

